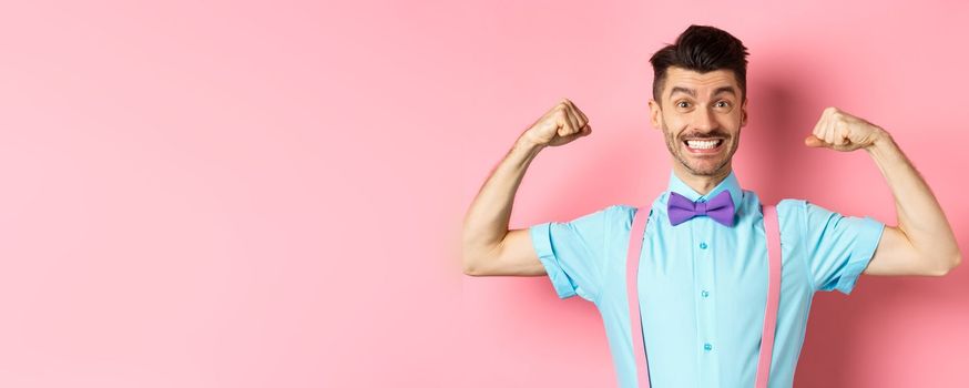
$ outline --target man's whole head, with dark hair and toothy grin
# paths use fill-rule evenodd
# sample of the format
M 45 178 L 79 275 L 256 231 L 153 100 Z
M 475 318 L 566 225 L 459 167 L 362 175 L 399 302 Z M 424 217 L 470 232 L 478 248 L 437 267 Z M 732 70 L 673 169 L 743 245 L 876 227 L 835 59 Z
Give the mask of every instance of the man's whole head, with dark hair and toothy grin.
M 650 118 L 674 170 L 725 176 L 747 122 L 747 48 L 726 31 L 690 25 L 653 54 Z

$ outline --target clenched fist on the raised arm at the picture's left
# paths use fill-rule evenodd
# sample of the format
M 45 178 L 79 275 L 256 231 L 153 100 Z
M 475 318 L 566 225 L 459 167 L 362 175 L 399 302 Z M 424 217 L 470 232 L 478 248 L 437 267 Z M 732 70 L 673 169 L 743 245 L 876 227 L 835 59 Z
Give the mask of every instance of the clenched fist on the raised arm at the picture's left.
M 592 126 L 589 125 L 589 118 L 572 101 L 562 99 L 524 131 L 521 139 L 539 146 L 557 146 L 590 133 Z

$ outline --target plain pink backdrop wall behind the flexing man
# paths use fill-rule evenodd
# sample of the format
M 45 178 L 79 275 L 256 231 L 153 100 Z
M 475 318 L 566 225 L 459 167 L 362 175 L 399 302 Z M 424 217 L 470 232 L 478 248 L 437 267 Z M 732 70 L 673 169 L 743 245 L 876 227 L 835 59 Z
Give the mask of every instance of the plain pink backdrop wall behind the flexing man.
M 965 251 L 969 7 L 839 3 L 4 3 L 0 386 L 614 385 L 591 304 L 460 274 L 461 218 L 562 96 L 595 132 L 542 152 L 511 227 L 662 191 L 647 59 L 690 23 L 751 49 L 745 187 L 894 223 L 864 153 L 800 145 L 836 105 Z M 965 386 L 967 294 L 965 267 L 819 294 L 797 385 Z

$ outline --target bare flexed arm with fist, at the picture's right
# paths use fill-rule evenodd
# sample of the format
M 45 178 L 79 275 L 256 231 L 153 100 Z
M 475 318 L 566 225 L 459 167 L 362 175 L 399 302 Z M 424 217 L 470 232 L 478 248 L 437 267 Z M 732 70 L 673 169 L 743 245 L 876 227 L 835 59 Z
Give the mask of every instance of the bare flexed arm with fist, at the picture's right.
M 885 226 L 865 274 L 942 276 L 959 265 L 961 253 L 941 206 L 888 132 L 828 108 L 805 144 L 837 151 L 864 149 L 888 182 L 898 225 Z

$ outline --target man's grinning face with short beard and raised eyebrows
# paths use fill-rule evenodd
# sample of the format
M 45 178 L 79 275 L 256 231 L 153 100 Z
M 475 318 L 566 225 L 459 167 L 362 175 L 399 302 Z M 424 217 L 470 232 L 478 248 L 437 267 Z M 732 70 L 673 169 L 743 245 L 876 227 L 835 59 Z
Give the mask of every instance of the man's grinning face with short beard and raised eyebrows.
M 661 101 L 650 101 L 653 126 L 663 130 L 674 169 L 697 176 L 726 175 L 737 151 L 747 104 L 733 71 L 666 69 Z

